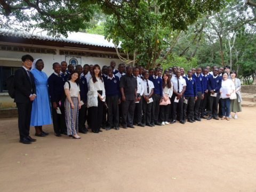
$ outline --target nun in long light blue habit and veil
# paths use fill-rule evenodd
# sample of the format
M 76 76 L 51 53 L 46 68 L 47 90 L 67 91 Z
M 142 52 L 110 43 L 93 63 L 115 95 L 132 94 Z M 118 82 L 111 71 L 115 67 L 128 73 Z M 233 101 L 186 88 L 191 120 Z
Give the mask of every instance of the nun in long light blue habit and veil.
M 42 59 L 35 59 L 31 73 L 34 75 L 36 84 L 36 98 L 33 101 L 30 126 L 35 126 L 35 136 L 45 137 L 49 133 L 42 130 L 42 125 L 52 124 L 50 97 L 48 94 L 48 77 L 42 71 L 44 62 Z

